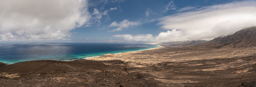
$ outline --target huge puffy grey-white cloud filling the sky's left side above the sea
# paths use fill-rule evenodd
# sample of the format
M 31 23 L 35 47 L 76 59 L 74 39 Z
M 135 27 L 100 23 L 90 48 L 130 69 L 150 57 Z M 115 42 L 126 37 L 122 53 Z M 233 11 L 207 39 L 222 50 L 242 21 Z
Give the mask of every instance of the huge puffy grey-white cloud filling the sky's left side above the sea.
M 2 0 L 0 41 L 63 39 L 90 20 L 87 6 L 86 0 Z

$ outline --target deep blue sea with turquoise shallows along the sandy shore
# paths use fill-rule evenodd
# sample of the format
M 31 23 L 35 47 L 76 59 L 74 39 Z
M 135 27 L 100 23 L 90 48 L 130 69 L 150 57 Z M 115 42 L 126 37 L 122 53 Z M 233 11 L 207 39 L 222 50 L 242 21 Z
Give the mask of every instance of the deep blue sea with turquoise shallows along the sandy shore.
M 155 47 L 158 46 L 125 43 L 0 43 L 0 62 L 13 64 L 34 60 L 72 61 Z

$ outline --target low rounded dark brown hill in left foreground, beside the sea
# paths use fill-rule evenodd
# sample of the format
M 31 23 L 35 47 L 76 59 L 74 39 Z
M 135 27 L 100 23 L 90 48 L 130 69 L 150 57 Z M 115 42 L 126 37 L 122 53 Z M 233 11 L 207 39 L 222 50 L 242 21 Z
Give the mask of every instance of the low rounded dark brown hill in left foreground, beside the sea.
M 105 63 L 105 64 L 104 64 Z M 56 71 L 83 71 L 83 72 L 100 72 L 110 69 L 121 69 L 119 66 L 108 66 L 108 64 L 119 64 L 123 61 L 91 61 L 91 60 L 75 60 L 75 61 L 52 61 L 39 60 L 19 62 L 11 65 L 0 63 L 0 72 L 8 74 L 19 74 L 19 76 L 31 76 L 33 74 L 49 73 Z M 117 70 L 118 71 L 118 70 Z M 1 76 L 1 75 L 0 75 Z

